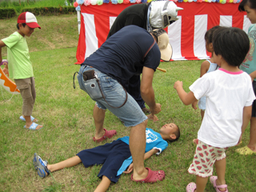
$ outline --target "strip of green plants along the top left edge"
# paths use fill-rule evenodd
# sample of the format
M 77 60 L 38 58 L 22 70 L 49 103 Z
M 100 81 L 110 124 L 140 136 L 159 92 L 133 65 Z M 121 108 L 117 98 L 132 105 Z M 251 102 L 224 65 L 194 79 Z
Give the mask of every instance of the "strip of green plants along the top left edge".
M 69 3 L 70 6 L 70 1 L 66 0 L 66 2 Z M 18 13 L 23 9 L 23 8 L 28 8 L 28 7 L 49 7 L 49 6 L 66 6 L 65 0 L 41 0 L 41 1 L 35 1 L 35 0 L 29 0 L 29 1 L 22 1 L 20 4 L 19 2 L 10 2 L 10 0 L 6 0 L 3 2 L 0 2 L 0 8 L 14 8 Z

